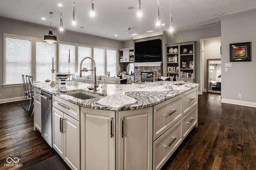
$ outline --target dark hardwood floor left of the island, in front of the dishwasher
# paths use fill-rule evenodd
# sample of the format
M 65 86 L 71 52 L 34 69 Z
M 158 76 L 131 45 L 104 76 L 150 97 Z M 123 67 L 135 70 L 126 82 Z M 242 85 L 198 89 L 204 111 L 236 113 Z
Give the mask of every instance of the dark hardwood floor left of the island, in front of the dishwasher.
M 41 134 L 34 131 L 30 115 L 31 112 L 21 107 L 21 102 L 0 104 L 0 170 L 25 170 L 56 155 L 54 150 L 48 148 Z M 14 166 L 8 166 L 8 157 L 17 157 L 18 166 L 14 162 L 10 163 Z

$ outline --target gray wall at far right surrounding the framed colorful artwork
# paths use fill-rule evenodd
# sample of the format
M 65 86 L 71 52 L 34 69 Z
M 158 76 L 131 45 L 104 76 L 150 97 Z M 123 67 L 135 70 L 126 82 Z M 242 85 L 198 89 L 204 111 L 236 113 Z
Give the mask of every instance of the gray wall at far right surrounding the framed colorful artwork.
M 221 96 L 222 102 L 256 107 L 256 11 L 248 15 L 243 13 L 239 16 L 221 18 Z M 230 62 L 230 43 L 244 42 L 252 42 L 252 61 Z M 228 67 L 228 72 L 224 71 L 224 63 L 232 63 L 232 67 Z M 242 94 L 242 98 L 238 98 L 238 94 Z

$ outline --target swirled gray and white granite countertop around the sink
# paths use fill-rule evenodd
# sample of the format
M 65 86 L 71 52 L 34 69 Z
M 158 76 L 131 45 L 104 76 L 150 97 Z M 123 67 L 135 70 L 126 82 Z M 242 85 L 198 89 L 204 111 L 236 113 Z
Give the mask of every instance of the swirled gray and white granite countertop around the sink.
M 66 86 L 60 86 L 59 82 L 56 81 L 54 82 L 56 86 L 51 87 L 49 86 L 50 83 L 34 82 L 33 86 L 81 107 L 114 111 L 154 106 L 199 86 L 199 84 L 188 82 L 185 82 L 183 85 L 175 85 L 175 82 L 172 81 L 158 81 L 145 84 L 107 84 L 107 95 L 104 95 L 101 90 L 102 84 L 99 84 L 98 91 L 94 92 L 86 88 L 87 86 L 92 86 L 92 84 L 70 81 L 66 82 Z M 74 91 L 94 93 L 100 97 L 82 100 L 64 94 L 64 92 Z

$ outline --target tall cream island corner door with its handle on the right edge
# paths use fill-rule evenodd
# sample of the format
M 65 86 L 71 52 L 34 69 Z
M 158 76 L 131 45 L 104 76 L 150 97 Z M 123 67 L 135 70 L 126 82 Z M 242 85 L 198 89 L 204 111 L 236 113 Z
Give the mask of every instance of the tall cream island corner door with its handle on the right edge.
M 81 107 L 81 169 L 115 169 L 115 114 Z

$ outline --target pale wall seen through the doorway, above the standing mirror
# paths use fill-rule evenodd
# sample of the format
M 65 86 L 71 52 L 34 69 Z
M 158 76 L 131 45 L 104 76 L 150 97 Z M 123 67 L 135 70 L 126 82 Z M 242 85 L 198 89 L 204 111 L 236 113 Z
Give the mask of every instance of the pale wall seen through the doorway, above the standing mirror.
M 207 89 L 207 59 L 221 59 L 220 39 L 204 41 L 204 88 Z

